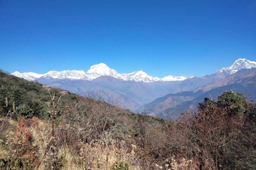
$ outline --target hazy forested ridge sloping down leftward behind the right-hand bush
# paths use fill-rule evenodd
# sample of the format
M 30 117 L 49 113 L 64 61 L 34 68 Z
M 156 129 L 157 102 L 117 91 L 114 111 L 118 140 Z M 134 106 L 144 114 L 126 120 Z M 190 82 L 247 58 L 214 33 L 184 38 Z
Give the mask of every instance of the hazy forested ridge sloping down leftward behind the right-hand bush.
M 210 84 L 199 86 L 192 91 L 168 94 L 160 97 L 137 110 L 146 112 L 152 116 L 165 117 L 167 113 L 175 116 L 185 109 L 195 109 L 197 104 L 205 97 L 216 98 L 221 92 L 234 90 L 235 92 L 246 92 L 251 95 L 251 99 L 256 99 L 256 69 L 243 69 L 225 78 Z

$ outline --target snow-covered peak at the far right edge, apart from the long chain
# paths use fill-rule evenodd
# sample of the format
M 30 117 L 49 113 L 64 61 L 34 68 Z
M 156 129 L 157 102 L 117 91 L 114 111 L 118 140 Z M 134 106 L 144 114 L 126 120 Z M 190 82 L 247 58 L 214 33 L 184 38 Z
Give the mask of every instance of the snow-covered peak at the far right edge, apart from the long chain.
M 249 61 L 247 59 L 238 59 L 236 60 L 230 67 L 222 68 L 217 70 L 213 73 L 213 75 L 224 74 L 224 75 L 231 75 L 236 73 L 238 70 L 242 69 L 251 69 L 256 67 L 256 62 Z

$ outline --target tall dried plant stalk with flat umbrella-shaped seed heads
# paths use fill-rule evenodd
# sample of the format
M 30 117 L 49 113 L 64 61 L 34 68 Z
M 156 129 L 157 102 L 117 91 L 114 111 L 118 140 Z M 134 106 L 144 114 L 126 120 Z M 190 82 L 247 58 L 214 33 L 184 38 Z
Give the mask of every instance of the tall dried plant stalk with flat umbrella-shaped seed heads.
M 51 114 L 51 120 L 52 120 L 52 121 L 51 121 L 51 128 L 52 128 L 51 136 L 52 136 L 52 137 L 54 136 L 54 130 L 53 130 L 53 128 L 54 128 L 55 107 L 59 104 L 59 101 L 60 101 L 61 97 L 62 97 L 63 95 L 65 95 L 65 94 L 68 92 L 68 91 L 64 91 L 64 90 L 63 90 L 63 91 L 60 91 L 59 93 L 61 94 L 61 96 L 59 97 L 57 103 L 55 104 L 54 98 L 55 98 L 56 88 L 57 88 L 58 86 L 60 86 L 60 84 L 52 84 L 52 87 L 54 88 L 54 91 L 53 91 L 53 94 L 51 95 L 50 90 L 51 90 L 52 87 L 43 85 L 43 88 L 45 88 L 45 89 L 48 91 L 48 93 L 49 93 L 49 95 L 50 95 L 50 97 L 51 97 L 51 102 L 52 102 L 52 114 Z

